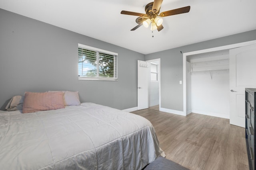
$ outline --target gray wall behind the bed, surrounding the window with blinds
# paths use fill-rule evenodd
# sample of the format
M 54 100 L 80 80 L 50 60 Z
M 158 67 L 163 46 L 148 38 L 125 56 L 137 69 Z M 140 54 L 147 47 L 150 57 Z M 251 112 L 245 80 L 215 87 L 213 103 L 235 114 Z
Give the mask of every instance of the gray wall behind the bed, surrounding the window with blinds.
M 118 53 L 118 81 L 78 80 L 78 43 Z M 137 106 L 145 55 L 0 9 L 0 107 L 26 91 L 79 91 L 81 102 Z

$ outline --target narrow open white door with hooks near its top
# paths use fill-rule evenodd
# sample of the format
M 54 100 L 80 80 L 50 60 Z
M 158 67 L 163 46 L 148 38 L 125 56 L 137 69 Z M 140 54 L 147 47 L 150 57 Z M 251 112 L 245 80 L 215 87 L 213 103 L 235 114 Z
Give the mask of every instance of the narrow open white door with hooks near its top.
M 138 110 L 148 108 L 148 74 L 150 64 L 138 60 Z

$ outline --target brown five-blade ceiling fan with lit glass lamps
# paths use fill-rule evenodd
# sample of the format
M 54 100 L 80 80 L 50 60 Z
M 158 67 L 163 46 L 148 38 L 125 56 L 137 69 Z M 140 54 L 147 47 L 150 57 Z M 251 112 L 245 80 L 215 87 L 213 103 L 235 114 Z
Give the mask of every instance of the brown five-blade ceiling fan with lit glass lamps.
M 146 14 L 130 12 L 130 11 L 121 11 L 121 14 L 139 16 L 136 19 L 136 23 L 138 23 L 138 25 L 133 29 L 131 29 L 131 31 L 134 31 L 141 25 L 144 25 L 145 27 L 149 27 L 150 23 L 151 23 L 151 27 L 150 27 L 151 30 L 157 29 L 158 31 L 161 31 L 164 28 L 162 25 L 163 19 L 159 17 L 173 16 L 176 14 L 183 14 L 190 11 L 190 6 L 186 6 L 183 8 L 177 8 L 175 10 L 161 12 L 159 14 L 162 2 L 163 0 L 154 0 L 154 2 L 150 2 L 149 4 L 147 4 L 145 6 Z

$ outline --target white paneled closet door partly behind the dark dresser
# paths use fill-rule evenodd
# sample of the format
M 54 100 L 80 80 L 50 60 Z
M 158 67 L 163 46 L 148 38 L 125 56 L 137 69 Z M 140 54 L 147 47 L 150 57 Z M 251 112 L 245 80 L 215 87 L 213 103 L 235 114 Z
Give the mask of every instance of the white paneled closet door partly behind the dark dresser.
M 245 88 L 256 88 L 256 44 L 230 49 L 230 124 L 245 127 Z

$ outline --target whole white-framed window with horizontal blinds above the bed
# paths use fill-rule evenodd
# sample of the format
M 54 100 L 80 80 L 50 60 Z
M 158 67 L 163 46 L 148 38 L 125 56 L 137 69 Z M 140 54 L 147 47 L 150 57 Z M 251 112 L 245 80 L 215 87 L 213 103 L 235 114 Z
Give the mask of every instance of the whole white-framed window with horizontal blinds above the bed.
M 78 80 L 117 80 L 117 55 L 78 44 Z

